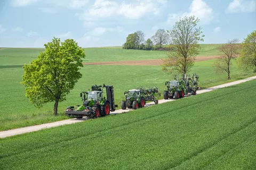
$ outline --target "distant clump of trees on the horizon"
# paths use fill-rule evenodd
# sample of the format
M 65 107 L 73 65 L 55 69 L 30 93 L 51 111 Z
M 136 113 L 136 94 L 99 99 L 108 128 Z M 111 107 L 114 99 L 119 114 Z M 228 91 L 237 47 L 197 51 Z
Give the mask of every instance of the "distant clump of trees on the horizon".
M 126 42 L 124 43 L 123 48 L 142 50 L 167 50 L 166 47 L 163 48 L 163 45 L 169 43 L 169 40 L 170 37 L 164 29 L 158 29 L 155 35 L 152 36 L 151 39 L 148 38 L 146 41 L 145 33 L 139 30 L 134 33 L 130 33 L 126 37 Z

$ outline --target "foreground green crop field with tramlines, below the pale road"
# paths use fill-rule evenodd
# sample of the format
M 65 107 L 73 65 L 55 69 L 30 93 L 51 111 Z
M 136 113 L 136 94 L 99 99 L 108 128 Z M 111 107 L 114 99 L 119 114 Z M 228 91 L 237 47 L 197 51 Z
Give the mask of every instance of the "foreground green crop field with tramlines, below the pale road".
M 255 85 L 0 139 L 0 168 L 255 169 Z

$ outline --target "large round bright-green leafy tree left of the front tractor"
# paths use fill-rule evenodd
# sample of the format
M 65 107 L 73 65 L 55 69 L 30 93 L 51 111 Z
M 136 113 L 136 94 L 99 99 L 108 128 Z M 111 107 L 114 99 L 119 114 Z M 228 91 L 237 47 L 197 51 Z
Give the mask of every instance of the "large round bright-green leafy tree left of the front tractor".
M 85 53 L 73 39 L 60 42 L 54 37 L 44 46 L 44 52 L 23 66 L 25 74 L 21 84 L 26 87 L 26 97 L 36 107 L 55 101 L 53 111 L 57 115 L 59 102 L 66 100 L 66 95 L 82 77 L 78 70 L 83 67 Z

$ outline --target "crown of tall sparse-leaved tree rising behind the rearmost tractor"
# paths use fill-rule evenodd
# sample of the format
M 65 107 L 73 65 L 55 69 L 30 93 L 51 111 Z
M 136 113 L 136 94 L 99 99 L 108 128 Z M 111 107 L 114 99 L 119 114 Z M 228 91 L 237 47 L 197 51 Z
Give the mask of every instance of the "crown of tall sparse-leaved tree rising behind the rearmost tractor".
M 198 22 L 199 19 L 195 16 L 185 16 L 175 22 L 172 30 L 167 30 L 172 50 L 167 52 L 168 58 L 161 65 L 163 71 L 186 74 L 191 70 L 195 56 L 199 53 L 198 41 L 203 41 L 204 37 L 201 35 L 202 28 L 196 27 Z

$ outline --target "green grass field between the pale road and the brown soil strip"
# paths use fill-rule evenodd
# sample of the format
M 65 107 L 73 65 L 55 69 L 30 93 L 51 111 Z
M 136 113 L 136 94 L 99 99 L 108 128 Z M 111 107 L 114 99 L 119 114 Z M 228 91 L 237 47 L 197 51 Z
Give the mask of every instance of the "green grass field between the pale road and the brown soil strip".
M 230 81 L 250 77 L 252 73 L 242 73 L 234 64 L 231 67 L 231 80 L 227 81 L 226 74 L 215 74 L 214 60 L 197 62 L 191 73 L 199 75 L 199 86 L 201 88 L 212 87 Z M 101 79 L 88 77 L 88 72 L 94 75 L 102 75 Z M 159 66 L 111 66 L 111 65 L 86 65 L 81 70 L 83 78 L 79 79 L 75 88 L 67 95 L 67 101 L 59 105 L 59 116 L 53 116 L 53 103 L 46 104 L 43 108 L 35 108 L 25 97 L 25 88 L 20 84 L 23 69 L 19 67 L 0 66 L 0 131 L 20 128 L 23 126 L 54 122 L 68 118 L 64 111 L 67 106 L 81 104 L 79 93 L 91 88 L 94 84 L 110 84 L 114 86 L 115 103 L 120 108 L 124 99 L 123 92 L 139 86 L 157 86 L 162 93 L 165 89 L 165 81 L 173 80 L 173 75 L 164 74 Z

